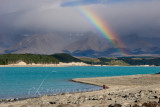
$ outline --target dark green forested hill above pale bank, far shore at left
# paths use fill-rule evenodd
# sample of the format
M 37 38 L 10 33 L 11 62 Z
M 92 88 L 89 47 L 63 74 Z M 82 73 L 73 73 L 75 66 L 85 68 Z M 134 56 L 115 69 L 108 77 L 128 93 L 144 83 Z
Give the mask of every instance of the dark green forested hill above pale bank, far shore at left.
M 59 62 L 83 62 L 69 54 L 54 54 L 54 55 L 40 55 L 40 54 L 3 54 L 0 55 L 0 65 L 14 64 L 23 61 L 27 64 L 58 64 Z

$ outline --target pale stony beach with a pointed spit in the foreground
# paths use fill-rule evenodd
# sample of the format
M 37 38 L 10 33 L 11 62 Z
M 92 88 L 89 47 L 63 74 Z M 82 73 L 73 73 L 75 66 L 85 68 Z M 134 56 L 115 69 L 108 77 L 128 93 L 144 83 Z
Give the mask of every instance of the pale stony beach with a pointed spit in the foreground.
M 73 81 L 98 86 L 105 84 L 109 88 L 1 103 L 0 107 L 111 107 L 114 104 L 133 107 L 160 100 L 160 74 L 78 78 Z

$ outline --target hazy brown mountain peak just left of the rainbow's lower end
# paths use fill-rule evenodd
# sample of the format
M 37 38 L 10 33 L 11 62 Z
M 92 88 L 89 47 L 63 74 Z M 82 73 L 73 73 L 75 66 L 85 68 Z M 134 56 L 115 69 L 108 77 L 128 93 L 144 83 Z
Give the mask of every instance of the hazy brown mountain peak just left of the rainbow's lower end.
M 71 53 L 75 51 L 86 51 L 86 50 L 103 52 L 111 47 L 112 46 L 108 44 L 108 41 L 105 38 L 99 37 L 94 33 L 88 33 L 86 34 L 85 37 L 66 46 L 64 50 L 69 51 Z

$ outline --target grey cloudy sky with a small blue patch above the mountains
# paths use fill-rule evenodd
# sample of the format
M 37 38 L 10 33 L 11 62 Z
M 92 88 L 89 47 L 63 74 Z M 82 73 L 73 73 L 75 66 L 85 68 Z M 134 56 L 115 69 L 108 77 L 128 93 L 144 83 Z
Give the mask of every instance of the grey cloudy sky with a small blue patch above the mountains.
M 0 42 L 31 32 L 94 31 L 78 7 L 95 13 L 117 36 L 160 36 L 160 0 L 0 0 Z

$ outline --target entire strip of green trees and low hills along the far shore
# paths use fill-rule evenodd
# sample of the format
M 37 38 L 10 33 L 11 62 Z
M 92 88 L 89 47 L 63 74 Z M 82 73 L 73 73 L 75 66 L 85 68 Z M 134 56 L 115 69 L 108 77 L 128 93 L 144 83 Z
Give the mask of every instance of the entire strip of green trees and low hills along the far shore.
M 3 54 L 0 55 L 0 65 L 15 64 L 24 61 L 27 64 L 58 64 L 59 62 L 84 62 L 91 65 L 154 65 L 160 66 L 159 57 L 117 57 L 117 58 L 76 58 L 69 54 L 60 53 L 53 55 L 39 54 Z

